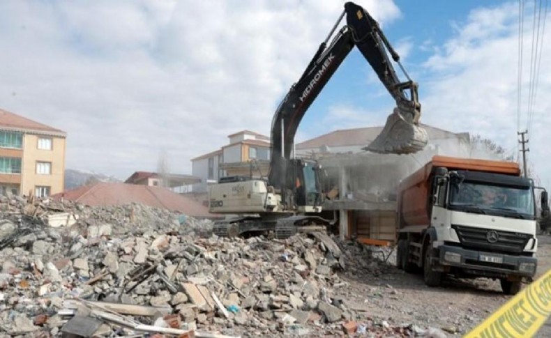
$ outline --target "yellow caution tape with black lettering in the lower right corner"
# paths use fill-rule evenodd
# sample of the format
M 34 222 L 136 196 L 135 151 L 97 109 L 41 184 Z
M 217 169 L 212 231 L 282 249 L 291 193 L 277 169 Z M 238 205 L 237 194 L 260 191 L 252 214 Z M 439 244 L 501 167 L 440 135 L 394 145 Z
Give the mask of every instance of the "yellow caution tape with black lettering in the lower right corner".
M 548 270 L 464 338 L 534 337 L 550 314 L 551 270 Z

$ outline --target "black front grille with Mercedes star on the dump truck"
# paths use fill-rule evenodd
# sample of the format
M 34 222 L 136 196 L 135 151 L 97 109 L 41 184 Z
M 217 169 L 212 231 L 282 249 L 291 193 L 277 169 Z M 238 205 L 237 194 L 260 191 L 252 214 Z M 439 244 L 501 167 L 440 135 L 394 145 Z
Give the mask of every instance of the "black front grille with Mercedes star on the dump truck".
M 463 247 L 484 249 L 494 252 L 520 254 L 532 238 L 527 233 L 474 228 L 472 226 L 452 225 L 458 233 Z M 495 233 L 490 232 L 495 231 Z M 497 235 L 497 236 L 496 236 Z

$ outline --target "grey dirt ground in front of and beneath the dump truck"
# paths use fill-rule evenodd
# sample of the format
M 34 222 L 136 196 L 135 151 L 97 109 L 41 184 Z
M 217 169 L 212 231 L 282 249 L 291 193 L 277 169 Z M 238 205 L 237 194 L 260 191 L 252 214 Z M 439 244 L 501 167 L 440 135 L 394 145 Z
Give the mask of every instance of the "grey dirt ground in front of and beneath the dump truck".
M 538 276 L 550 268 L 551 237 L 542 236 Z M 349 286 L 338 291 L 339 296 L 354 300 L 366 318 L 391 325 L 440 328 L 451 337 L 465 335 L 511 298 L 501 293 L 499 281 L 446 279 L 443 286 L 429 288 L 421 275 L 408 275 L 393 267 L 378 276 L 357 271 L 354 275 L 343 275 L 342 279 Z M 538 334 L 551 337 L 551 320 Z

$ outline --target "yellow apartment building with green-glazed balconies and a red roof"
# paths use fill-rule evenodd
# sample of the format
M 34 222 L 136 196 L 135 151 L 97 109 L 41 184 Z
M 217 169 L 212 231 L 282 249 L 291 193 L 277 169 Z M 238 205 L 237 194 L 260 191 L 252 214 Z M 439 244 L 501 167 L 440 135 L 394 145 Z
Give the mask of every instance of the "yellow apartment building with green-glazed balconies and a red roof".
M 0 109 L 0 194 L 63 191 L 66 132 Z

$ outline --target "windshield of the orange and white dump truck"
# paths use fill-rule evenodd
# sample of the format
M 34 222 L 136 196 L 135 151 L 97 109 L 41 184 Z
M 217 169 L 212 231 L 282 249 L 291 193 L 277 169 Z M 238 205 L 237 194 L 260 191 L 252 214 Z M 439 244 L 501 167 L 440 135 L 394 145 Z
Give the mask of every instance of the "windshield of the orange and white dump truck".
M 477 182 L 451 184 L 451 206 L 474 206 L 534 217 L 531 187 L 506 187 Z

